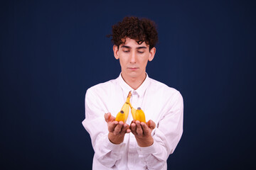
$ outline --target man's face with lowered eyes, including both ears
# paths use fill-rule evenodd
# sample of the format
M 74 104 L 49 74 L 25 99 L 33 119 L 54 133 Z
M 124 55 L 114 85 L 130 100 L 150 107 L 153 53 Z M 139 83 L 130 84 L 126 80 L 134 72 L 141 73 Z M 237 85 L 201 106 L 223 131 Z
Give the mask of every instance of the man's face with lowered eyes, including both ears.
M 146 64 L 153 60 L 156 48 L 149 51 L 146 42 L 138 44 L 136 40 L 126 38 L 124 44 L 114 45 L 114 57 L 120 62 L 122 77 L 125 79 L 144 79 L 146 76 Z

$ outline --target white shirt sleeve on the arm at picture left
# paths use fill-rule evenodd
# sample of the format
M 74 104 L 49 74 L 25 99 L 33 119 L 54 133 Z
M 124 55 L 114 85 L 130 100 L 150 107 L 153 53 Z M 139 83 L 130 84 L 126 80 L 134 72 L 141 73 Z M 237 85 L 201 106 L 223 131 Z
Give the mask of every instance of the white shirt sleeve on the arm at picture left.
M 114 145 L 108 139 L 107 123 L 104 119 L 104 114 L 108 111 L 105 105 L 99 96 L 88 89 L 85 95 L 85 120 L 82 125 L 90 134 L 97 161 L 111 168 L 121 159 L 125 146 L 124 143 Z

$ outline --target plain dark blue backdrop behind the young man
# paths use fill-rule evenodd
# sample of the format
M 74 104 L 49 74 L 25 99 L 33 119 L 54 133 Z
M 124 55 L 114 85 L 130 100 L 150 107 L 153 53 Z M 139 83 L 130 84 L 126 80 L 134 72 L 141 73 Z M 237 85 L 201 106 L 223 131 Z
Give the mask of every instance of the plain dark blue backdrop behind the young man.
M 255 166 L 254 1 L 1 1 L 0 169 L 91 169 L 86 90 L 115 79 L 111 26 L 158 26 L 149 77 L 181 91 L 169 169 Z

